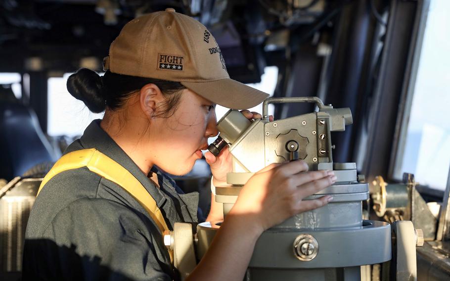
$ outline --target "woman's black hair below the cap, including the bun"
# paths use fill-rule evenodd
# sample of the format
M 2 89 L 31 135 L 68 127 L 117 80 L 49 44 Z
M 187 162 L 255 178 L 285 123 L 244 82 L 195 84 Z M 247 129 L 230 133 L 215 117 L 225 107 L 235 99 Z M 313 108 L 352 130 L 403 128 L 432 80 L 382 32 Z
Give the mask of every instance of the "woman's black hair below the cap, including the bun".
M 120 108 L 124 101 L 147 84 L 155 84 L 166 97 L 156 116 L 169 117 L 177 109 L 181 90 L 186 89 L 180 82 L 153 78 L 122 75 L 106 71 L 103 76 L 81 68 L 69 76 L 67 90 L 76 99 L 83 101 L 90 111 L 103 112 L 106 108 Z

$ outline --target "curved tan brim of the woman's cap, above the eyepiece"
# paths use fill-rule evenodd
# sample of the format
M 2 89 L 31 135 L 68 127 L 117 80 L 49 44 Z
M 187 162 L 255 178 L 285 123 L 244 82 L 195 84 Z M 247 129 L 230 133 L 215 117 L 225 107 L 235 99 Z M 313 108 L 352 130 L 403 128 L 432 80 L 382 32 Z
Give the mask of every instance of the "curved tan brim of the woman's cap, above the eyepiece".
M 208 82 L 180 82 L 183 86 L 219 105 L 232 109 L 254 107 L 269 94 L 226 78 Z

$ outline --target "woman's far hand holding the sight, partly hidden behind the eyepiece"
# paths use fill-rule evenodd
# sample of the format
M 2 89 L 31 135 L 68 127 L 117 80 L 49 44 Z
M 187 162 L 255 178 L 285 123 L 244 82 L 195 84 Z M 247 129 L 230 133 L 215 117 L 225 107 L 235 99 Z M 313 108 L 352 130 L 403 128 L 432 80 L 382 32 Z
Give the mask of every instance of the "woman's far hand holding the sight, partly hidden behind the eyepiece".
M 258 112 L 250 112 L 249 110 L 241 110 L 242 115 L 247 119 L 262 119 L 263 116 Z M 269 116 L 269 121 L 273 121 L 273 116 Z M 219 155 L 214 156 L 213 153 L 207 151 L 205 153 L 206 163 L 211 167 L 211 173 L 213 174 L 213 184 L 214 186 L 224 186 L 226 185 L 226 174 L 231 172 L 231 154 L 228 149 L 223 149 Z

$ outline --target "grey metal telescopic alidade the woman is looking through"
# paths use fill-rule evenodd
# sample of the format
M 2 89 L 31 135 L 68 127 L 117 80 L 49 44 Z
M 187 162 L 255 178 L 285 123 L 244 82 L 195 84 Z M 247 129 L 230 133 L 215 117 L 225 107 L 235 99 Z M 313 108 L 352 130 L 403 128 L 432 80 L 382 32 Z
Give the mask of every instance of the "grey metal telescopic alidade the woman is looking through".
M 294 102 L 315 102 L 317 111 L 269 120 L 270 103 Z M 216 201 L 223 204 L 225 220 L 250 177 L 271 163 L 302 159 L 310 171 L 333 170 L 337 177 L 335 184 L 304 199 L 331 195 L 333 201 L 295 215 L 260 236 L 246 280 L 360 280 L 361 266 L 391 260 L 391 225 L 362 219 L 362 201 L 369 199 L 369 189 L 362 182 L 363 177 L 358 176 L 356 163 L 333 162 L 331 132 L 344 131 L 352 123 L 349 108 L 324 105 L 317 97 L 269 98 L 263 103 L 262 120 L 250 121 L 239 111 L 229 110 L 218 122 L 220 135 L 209 149 L 217 155 L 227 147 L 232 155 L 228 186 L 215 190 Z M 219 228 L 220 222 L 197 226 L 198 259 Z M 402 263 L 391 267 L 397 267 L 400 276 L 414 277 L 415 246 L 420 232 L 409 221 L 394 224 L 393 231 L 397 237 L 394 249 L 401 247 L 397 260 Z M 175 248 L 176 245 L 175 241 Z

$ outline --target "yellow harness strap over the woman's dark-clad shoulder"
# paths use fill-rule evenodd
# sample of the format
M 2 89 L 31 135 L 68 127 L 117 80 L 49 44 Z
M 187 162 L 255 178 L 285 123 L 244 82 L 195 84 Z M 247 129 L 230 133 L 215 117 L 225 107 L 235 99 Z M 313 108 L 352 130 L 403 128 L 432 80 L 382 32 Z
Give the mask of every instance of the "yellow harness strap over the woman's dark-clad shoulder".
M 45 178 L 39 187 L 38 195 L 45 184 L 55 175 L 81 167 L 87 167 L 91 172 L 94 172 L 127 190 L 128 193 L 130 193 L 148 212 L 162 234 L 164 234 L 165 230 L 169 231 L 161 210 L 158 208 L 155 199 L 148 193 L 147 189 L 145 189 L 145 187 L 143 187 L 135 176 L 127 169 L 94 148 L 81 149 L 63 155 L 56 161 L 48 174 L 45 175 Z M 172 251 L 169 251 L 169 254 L 171 260 L 173 260 Z

